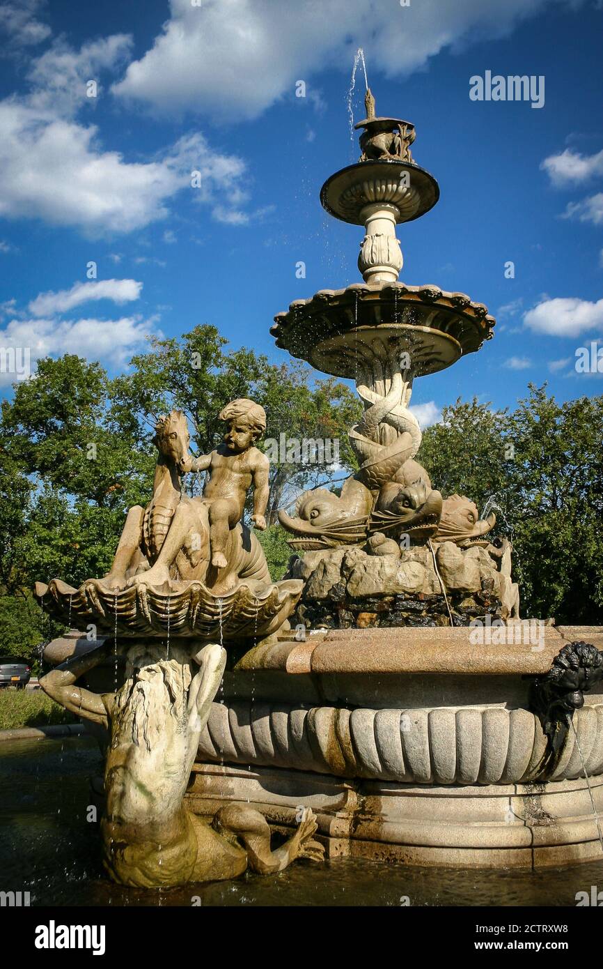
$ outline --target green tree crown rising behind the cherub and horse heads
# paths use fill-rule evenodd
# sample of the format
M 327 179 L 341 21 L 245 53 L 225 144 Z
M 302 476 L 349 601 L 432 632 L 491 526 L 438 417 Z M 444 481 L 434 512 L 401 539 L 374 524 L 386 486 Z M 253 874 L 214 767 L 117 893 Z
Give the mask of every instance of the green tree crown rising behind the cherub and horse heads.
M 245 347 L 226 352 L 226 339 L 207 325 L 181 339 L 151 337 L 149 344 L 148 353 L 132 360 L 132 372 L 118 377 L 110 389 L 112 420 L 140 442 L 160 414 L 177 408 L 193 424 L 193 450 L 209 453 L 224 435 L 219 414 L 226 401 L 252 397 L 266 411 L 265 441 L 280 443 L 282 434 L 287 442 L 336 441 L 342 467 L 354 467 L 347 429 L 362 408 L 346 384 L 334 378 L 315 380 L 305 364 L 270 363 Z M 282 456 L 286 458 L 286 449 Z M 273 524 L 278 509 L 305 487 L 341 476 L 342 468 L 314 460 L 311 449 L 300 456 L 308 459 L 271 463 L 268 520 Z

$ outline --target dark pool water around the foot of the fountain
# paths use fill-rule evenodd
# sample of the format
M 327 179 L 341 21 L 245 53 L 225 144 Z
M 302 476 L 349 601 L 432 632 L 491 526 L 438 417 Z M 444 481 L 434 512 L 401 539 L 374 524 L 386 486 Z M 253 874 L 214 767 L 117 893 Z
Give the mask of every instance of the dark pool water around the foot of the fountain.
M 536 872 L 302 860 L 265 878 L 124 889 L 106 878 L 98 826 L 86 820 L 89 778 L 101 772 L 99 749 L 87 737 L 0 745 L 0 891 L 29 891 L 34 906 L 575 906 L 576 892 L 603 890 L 603 859 Z

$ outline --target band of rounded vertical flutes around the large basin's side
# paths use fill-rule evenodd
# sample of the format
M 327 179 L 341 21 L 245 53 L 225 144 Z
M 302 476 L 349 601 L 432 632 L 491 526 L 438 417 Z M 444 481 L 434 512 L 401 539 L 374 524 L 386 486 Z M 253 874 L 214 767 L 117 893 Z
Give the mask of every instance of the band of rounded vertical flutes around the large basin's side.
M 574 724 L 588 775 L 603 773 L 603 703 Z M 363 709 L 214 703 L 198 759 L 409 784 L 527 783 L 546 737 L 523 708 Z M 549 780 L 584 776 L 573 733 Z

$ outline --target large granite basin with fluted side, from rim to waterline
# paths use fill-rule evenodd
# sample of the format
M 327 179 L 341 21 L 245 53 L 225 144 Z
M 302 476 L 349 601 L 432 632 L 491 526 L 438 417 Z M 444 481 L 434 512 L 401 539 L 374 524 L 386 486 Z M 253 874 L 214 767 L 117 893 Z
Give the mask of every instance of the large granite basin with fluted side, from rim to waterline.
M 601 685 L 575 711 L 546 782 L 536 779 L 547 737 L 529 689 L 566 642 L 600 647 L 603 629 L 546 627 L 536 647 L 476 648 L 469 635 L 335 630 L 257 646 L 226 672 L 200 737 L 192 810 L 209 816 L 249 799 L 286 830 L 308 804 L 330 857 L 475 867 L 600 859 Z

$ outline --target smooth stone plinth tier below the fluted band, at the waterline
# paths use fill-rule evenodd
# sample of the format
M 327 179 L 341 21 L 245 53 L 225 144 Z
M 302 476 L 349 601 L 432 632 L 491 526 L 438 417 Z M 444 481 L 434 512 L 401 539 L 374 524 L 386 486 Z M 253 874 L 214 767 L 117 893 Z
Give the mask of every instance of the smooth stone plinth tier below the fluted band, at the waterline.
M 603 813 L 603 777 L 591 781 Z M 196 764 L 185 802 L 209 818 L 251 804 L 290 833 L 302 804 L 317 816 L 327 858 L 475 868 L 539 868 L 600 860 L 587 782 L 438 787 L 346 781 L 275 767 Z

